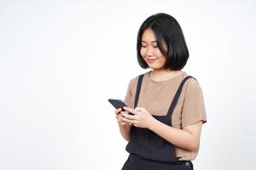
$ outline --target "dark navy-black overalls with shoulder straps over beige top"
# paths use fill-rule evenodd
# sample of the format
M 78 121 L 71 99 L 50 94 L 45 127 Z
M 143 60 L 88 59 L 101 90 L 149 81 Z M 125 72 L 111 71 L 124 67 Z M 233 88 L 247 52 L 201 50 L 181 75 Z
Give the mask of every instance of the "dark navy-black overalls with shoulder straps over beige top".
M 137 102 L 142 87 L 143 76 L 140 75 L 137 82 L 137 92 L 134 102 L 134 108 L 137 107 Z M 177 105 L 177 100 L 181 94 L 183 84 L 189 78 L 185 77 L 172 100 L 172 104 L 167 111 L 166 116 L 154 116 L 160 122 L 172 127 L 172 111 Z M 178 161 L 175 154 L 173 144 L 161 138 L 158 134 L 150 131 L 148 128 L 131 126 L 131 140 L 126 145 L 130 155 L 125 161 L 122 170 L 192 170 L 193 164 L 191 161 Z

